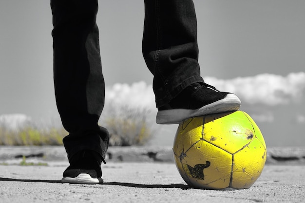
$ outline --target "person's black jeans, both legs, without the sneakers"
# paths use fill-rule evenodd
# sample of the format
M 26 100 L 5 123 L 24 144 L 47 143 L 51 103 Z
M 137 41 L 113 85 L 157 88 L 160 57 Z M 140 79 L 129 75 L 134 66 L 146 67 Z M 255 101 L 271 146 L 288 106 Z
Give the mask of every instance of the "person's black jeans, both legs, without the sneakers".
M 104 158 L 109 134 L 97 124 L 105 98 L 97 0 L 51 0 L 51 8 L 57 109 L 69 132 L 64 146 L 69 158 L 83 149 Z M 145 0 L 142 51 L 154 75 L 157 107 L 190 84 L 203 82 L 192 0 Z

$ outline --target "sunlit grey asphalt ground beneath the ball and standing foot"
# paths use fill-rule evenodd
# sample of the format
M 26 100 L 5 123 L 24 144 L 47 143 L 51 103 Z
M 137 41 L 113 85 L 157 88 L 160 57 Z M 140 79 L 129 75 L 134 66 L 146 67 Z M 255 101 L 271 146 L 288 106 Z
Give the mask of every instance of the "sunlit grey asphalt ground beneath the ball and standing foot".
M 28 154 L 24 155 L 26 159 L 20 157 L 20 153 L 38 151 L 33 148 L 15 148 L 14 151 L 10 148 L 11 152 L 3 155 L 3 150 L 7 152 L 8 148 L 0 148 L 0 203 L 305 202 L 303 155 L 298 161 L 295 154 L 289 157 L 280 156 L 279 153 L 273 155 L 277 162 L 267 161 L 261 176 L 249 189 L 203 190 L 186 185 L 175 164 L 165 161 L 168 159 L 168 148 L 158 148 L 159 156 L 157 151 L 147 149 L 148 153 L 144 148 L 110 149 L 112 155 L 108 155 L 108 163 L 102 165 L 104 183 L 101 185 L 60 183 L 62 172 L 68 166 L 66 158 L 58 155 L 64 154 L 61 148 L 53 150 L 53 157 L 51 154 L 44 154 L 43 157 Z M 119 151 L 122 151 L 120 155 Z M 291 150 L 290 154 L 295 151 Z M 123 156 L 128 152 L 127 157 L 132 158 Z M 114 159 L 114 156 L 120 158 Z M 134 158 L 141 156 L 149 159 L 143 161 Z

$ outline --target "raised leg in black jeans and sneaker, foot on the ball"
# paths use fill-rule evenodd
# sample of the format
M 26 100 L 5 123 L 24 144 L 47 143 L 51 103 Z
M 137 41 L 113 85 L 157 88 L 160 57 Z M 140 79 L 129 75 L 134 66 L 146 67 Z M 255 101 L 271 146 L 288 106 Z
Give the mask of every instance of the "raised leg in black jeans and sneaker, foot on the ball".
M 236 95 L 215 90 L 200 76 L 192 0 L 145 0 L 142 49 L 154 75 L 157 123 L 239 109 Z

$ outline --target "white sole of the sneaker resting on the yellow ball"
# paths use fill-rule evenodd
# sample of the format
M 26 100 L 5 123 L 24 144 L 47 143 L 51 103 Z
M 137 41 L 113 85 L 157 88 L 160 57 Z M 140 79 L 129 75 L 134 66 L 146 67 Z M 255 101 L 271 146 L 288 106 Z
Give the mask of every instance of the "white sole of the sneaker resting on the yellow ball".
M 232 93 L 227 94 L 227 96 L 221 100 L 214 103 L 201 107 L 195 110 L 189 109 L 172 109 L 158 111 L 156 117 L 157 124 L 179 124 L 182 121 L 208 114 L 223 113 L 229 111 L 239 110 L 241 105 L 240 99 Z

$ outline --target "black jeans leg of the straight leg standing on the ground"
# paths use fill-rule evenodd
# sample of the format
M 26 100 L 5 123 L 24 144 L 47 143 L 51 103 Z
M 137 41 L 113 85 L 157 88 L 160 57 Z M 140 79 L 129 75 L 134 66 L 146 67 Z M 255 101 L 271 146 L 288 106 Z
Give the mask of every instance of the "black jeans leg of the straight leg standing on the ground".
M 54 29 L 54 83 L 57 109 L 69 135 L 68 158 L 83 149 L 103 158 L 108 131 L 97 122 L 104 107 L 105 85 L 95 23 L 97 0 L 51 0 Z

